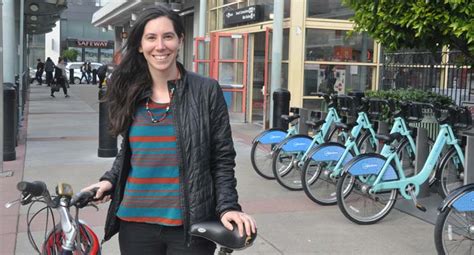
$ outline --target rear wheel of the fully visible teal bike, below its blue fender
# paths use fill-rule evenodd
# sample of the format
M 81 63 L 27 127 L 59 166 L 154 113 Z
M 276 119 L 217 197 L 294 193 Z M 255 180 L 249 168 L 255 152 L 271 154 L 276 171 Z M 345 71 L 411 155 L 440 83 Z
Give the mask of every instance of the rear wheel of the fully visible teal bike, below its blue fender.
M 366 178 L 370 178 L 370 176 L 365 176 Z M 349 179 L 349 183 L 346 184 L 346 179 Z M 360 187 L 359 185 L 355 185 L 356 182 L 361 182 Z M 392 210 L 393 206 L 395 205 L 395 201 L 397 199 L 398 195 L 398 190 L 393 189 L 388 192 L 383 192 L 383 193 L 378 193 L 374 195 L 367 194 L 367 192 L 362 191 L 362 187 L 365 183 L 360 180 L 359 176 L 353 176 L 350 173 L 346 172 L 344 173 L 338 180 L 337 182 L 337 189 L 336 189 L 336 196 L 337 196 L 337 205 L 339 206 L 339 209 L 341 210 L 342 214 L 349 219 L 350 221 L 357 223 L 359 225 L 369 225 L 369 224 L 374 224 L 383 218 L 385 218 L 390 211 Z M 347 187 L 345 186 L 347 185 Z M 360 188 L 360 189 L 358 189 Z M 347 191 L 346 191 L 347 190 Z M 359 194 L 354 194 L 355 192 L 358 192 Z M 387 203 L 382 207 L 382 209 L 378 212 L 375 212 L 373 215 L 357 215 L 360 214 L 360 212 L 365 212 L 368 213 L 368 210 L 366 208 L 363 208 L 363 210 L 360 210 L 356 208 L 353 204 L 349 205 L 349 202 L 351 200 L 360 200 L 364 199 L 363 206 L 366 207 L 368 205 L 368 202 L 371 203 L 378 203 L 382 199 L 380 198 L 382 194 L 387 195 L 388 194 L 388 199 L 385 199 Z M 355 197 L 353 198 L 353 195 L 359 195 L 360 198 Z M 375 199 L 371 198 L 371 196 L 377 196 Z M 374 206 L 375 208 L 380 208 L 380 206 Z

